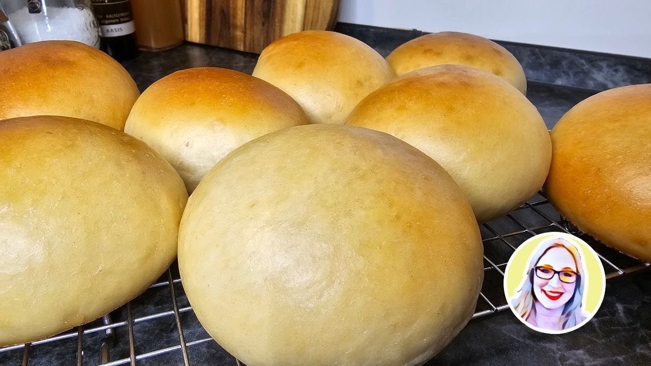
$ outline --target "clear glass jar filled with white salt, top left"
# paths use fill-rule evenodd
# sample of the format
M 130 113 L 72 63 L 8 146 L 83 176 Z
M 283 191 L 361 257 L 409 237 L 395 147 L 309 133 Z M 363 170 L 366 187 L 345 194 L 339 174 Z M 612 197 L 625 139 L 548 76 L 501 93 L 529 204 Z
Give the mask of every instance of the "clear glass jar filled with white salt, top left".
M 90 0 L 0 0 L 23 44 L 76 40 L 100 48 Z

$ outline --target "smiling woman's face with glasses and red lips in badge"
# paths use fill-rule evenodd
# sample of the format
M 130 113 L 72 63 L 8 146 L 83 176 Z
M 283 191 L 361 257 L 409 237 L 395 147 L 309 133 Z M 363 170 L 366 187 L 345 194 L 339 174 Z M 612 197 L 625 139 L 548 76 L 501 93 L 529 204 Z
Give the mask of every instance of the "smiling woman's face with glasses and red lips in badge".
M 577 273 L 577 268 L 574 258 L 566 249 L 562 247 L 549 249 L 545 255 L 540 257 L 534 271 L 534 294 L 544 307 L 556 309 L 565 305 L 572 298 L 576 287 L 576 278 L 572 278 L 572 274 Z M 554 271 L 564 272 L 555 273 Z

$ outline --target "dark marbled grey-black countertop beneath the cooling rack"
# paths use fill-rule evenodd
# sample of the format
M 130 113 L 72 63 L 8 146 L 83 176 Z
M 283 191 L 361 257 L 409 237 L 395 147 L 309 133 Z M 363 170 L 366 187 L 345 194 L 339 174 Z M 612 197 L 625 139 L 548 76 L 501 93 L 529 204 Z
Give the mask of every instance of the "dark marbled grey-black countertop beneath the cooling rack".
M 419 31 L 396 31 L 339 24 L 337 31 L 355 36 L 386 56 L 402 42 L 419 36 Z M 529 79 L 527 97 L 538 107 L 551 128 L 570 107 L 597 91 L 648 83 L 651 61 L 631 57 L 600 55 L 553 48 L 501 42 L 525 68 Z M 124 62 L 141 91 L 176 70 L 200 66 L 218 66 L 251 73 L 257 55 L 197 44 L 183 44 L 159 53 L 141 53 Z M 178 273 L 172 276 L 178 278 Z M 188 346 L 191 366 L 234 366 L 232 356 L 217 343 L 204 340 L 207 333 L 187 308 L 180 283 L 174 285 L 180 320 Z M 147 290 L 132 302 L 136 354 L 179 345 L 171 292 L 167 285 Z M 146 315 L 167 312 L 156 319 Z M 126 307 L 112 313 L 113 321 L 126 319 Z M 101 320 L 87 326 L 101 325 Z M 103 332 L 83 337 L 84 364 L 95 365 Z M 128 358 L 128 330 L 116 328 L 111 361 Z M 76 364 L 76 339 L 31 346 L 29 365 L 55 366 Z M 23 349 L 0 353 L 0 365 L 20 365 Z M 160 356 L 141 359 L 138 365 L 183 365 L 179 348 Z M 519 365 L 519 366 L 629 366 L 651 365 L 651 272 L 618 277 L 607 282 L 605 299 L 596 316 L 585 326 L 564 335 L 545 335 L 523 326 L 510 311 L 473 320 L 431 365 Z M 309 366 L 309 365 L 306 365 Z

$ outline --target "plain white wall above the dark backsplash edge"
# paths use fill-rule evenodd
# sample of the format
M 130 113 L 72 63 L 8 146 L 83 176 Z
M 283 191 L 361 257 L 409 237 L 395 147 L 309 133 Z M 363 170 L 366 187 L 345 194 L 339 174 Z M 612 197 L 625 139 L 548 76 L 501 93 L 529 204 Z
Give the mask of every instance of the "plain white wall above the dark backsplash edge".
M 651 58 L 651 0 L 341 0 L 339 20 Z

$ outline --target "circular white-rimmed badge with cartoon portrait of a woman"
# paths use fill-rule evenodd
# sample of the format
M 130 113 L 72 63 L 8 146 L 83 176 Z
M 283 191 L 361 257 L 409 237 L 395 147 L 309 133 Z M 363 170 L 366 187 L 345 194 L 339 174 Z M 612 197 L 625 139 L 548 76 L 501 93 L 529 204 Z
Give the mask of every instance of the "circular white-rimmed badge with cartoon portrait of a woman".
M 529 328 L 548 334 L 573 331 L 597 312 L 605 273 L 586 242 L 564 232 L 546 232 L 516 249 L 506 264 L 508 306 Z

